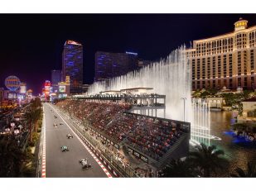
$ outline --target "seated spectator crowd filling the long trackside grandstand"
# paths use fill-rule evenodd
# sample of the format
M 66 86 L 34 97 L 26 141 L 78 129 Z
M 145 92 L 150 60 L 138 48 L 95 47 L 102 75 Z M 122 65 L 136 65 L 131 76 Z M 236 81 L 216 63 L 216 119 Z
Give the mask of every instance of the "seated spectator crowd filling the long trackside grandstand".
M 128 103 L 66 99 L 57 106 L 82 122 L 89 122 L 118 145 L 126 143 L 155 160 L 167 153 L 183 133 L 174 122 L 126 113 L 132 107 Z

